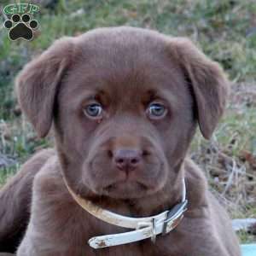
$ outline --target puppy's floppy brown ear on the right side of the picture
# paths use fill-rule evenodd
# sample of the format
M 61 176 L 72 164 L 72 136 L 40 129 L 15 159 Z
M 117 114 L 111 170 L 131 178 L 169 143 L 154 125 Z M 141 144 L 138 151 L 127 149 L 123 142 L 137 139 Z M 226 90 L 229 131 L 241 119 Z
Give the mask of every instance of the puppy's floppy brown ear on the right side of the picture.
M 195 97 L 196 115 L 202 135 L 209 139 L 220 119 L 230 84 L 222 68 L 187 38 L 172 38 L 172 54 L 183 70 Z

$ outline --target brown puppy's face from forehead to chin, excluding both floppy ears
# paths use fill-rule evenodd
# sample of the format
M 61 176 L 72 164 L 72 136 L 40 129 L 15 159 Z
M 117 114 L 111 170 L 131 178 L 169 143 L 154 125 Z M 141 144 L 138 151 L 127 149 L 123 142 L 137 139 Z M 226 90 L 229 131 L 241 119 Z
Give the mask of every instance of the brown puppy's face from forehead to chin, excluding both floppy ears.
M 174 182 L 195 130 L 177 64 L 147 46 L 82 52 L 62 81 L 56 131 L 67 175 L 98 195 L 137 198 Z

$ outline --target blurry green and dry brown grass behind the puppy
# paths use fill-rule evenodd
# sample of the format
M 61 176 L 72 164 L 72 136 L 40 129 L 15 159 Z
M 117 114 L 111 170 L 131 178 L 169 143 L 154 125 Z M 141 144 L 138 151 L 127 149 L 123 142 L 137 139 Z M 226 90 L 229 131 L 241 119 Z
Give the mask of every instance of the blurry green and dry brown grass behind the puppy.
M 26 1 L 23 1 L 26 2 Z M 198 133 L 193 159 L 233 217 L 256 215 L 256 2 L 254 0 L 74 0 L 41 7 L 40 27 L 30 43 L 11 42 L 0 29 L 0 152 L 15 160 L 0 167 L 0 184 L 33 152 L 51 143 L 39 140 L 20 118 L 13 94 L 15 75 L 56 39 L 99 26 L 149 27 L 191 38 L 218 61 L 233 82 L 230 105 L 210 142 Z M 1 1 L 3 9 L 9 1 Z M 3 23 L 5 17 L 0 17 Z M 250 241 L 241 234 L 242 241 Z

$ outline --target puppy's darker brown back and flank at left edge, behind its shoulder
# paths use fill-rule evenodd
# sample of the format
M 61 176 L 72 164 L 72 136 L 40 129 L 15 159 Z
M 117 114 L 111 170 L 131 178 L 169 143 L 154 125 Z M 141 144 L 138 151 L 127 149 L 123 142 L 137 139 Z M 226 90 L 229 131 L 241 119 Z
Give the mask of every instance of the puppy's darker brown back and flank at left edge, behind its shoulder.
M 20 244 L 29 221 L 33 179 L 53 154 L 55 152 L 52 149 L 44 149 L 35 154 L 21 167 L 20 172 L 0 189 L 1 252 L 14 252 Z

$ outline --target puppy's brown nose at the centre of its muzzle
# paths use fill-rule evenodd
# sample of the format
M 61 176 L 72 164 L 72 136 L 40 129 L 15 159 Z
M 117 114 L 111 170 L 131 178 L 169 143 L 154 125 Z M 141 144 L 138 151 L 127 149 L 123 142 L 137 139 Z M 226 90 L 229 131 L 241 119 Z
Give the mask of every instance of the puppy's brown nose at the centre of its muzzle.
M 121 171 L 130 172 L 137 168 L 142 160 L 142 154 L 137 149 L 118 149 L 113 153 L 115 166 Z

